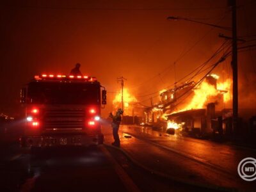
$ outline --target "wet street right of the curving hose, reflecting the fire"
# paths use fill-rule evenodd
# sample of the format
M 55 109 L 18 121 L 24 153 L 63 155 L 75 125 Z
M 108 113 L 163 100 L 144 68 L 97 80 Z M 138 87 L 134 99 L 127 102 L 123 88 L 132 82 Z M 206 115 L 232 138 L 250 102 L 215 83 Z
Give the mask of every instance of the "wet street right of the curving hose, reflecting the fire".
M 113 139 L 108 127 L 102 130 L 106 143 L 111 143 Z M 256 188 L 255 182 L 246 182 L 237 173 L 239 161 L 244 157 L 256 157 L 253 149 L 128 125 L 120 127 L 120 138 L 122 150 L 135 161 L 173 180 L 213 189 L 253 191 Z

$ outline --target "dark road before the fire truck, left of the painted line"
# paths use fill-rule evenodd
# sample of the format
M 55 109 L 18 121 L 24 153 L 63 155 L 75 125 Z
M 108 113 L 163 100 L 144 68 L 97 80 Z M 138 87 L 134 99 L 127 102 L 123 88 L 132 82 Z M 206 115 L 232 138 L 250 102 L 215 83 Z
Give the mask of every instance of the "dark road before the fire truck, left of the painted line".
M 100 148 L 53 148 L 1 161 L 1 191 L 125 191 Z

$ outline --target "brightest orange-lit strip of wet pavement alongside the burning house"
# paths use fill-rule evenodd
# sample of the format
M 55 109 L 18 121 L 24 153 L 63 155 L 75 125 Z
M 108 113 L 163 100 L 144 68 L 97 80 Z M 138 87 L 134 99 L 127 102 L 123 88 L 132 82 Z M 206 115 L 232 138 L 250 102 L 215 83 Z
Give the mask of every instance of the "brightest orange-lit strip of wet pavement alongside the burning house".
M 245 157 L 256 158 L 255 149 L 216 143 L 208 140 L 198 140 L 183 137 L 179 134 L 169 135 L 160 131 L 154 131 L 150 127 L 124 126 L 122 127 L 122 132 L 132 134 L 136 138 L 152 141 L 161 146 L 166 146 L 179 153 L 189 154 L 234 174 L 237 173 L 237 164 L 242 159 Z

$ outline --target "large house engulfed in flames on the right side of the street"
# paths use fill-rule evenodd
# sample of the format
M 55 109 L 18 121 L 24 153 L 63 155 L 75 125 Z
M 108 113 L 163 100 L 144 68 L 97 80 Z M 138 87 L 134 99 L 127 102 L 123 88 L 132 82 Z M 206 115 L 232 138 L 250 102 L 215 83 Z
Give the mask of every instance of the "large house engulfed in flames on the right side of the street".
M 159 102 L 145 112 L 147 124 L 162 129 L 182 129 L 196 135 L 222 133 L 230 129 L 231 81 L 218 83 L 215 74 L 196 86 L 194 81 L 159 93 Z M 224 119 L 224 122 L 223 122 Z M 221 122 L 220 122 L 221 121 Z M 226 125 L 226 126 L 225 126 Z

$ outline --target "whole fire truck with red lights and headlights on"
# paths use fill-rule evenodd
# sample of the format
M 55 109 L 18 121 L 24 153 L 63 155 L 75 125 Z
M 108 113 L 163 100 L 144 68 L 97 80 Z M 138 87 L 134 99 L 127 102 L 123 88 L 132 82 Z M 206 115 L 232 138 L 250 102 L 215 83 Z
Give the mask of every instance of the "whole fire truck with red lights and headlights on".
M 20 102 L 26 114 L 22 147 L 103 143 L 100 109 L 106 90 L 95 77 L 35 76 L 22 88 Z

